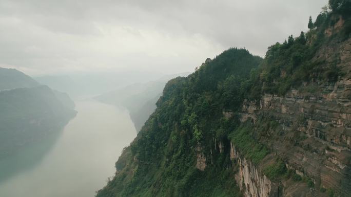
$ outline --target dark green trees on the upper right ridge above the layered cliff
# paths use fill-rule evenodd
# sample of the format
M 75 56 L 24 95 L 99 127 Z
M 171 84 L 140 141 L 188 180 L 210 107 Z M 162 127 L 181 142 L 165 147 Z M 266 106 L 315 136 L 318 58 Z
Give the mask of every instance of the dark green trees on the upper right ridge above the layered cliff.
M 338 7 L 342 12 L 349 3 L 344 3 Z M 351 11 L 351 8 L 347 8 Z M 268 47 L 265 59 L 260 65 L 255 75 L 255 85 L 252 86 L 253 93 L 270 93 L 284 95 L 291 88 L 301 86 L 303 82 L 313 81 L 336 81 L 343 73 L 336 64 L 339 62 L 339 54 L 333 57 L 333 63 L 325 67 L 325 59 L 315 59 L 318 57 L 318 50 L 321 46 L 330 43 L 330 40 L 347 39 L 351 36 L 350 12 L 344 13 L 343 17 L 338 14 L 322 11 L 315 23 L 309 23 L 309 32 L 301 32 L 300 36 L 294 38 L 292 35 L 283 43 L 277 42 Z M 311 18 L 310 18 L 311 19 Z M 344 28 L 332 32 L 332 36 L 325 34 L 330 31 L 339 20 L 343 20 Z M 257 98 L 259 95 L 252 95 Z M 256 96 L 256 97 L 255 97 Z

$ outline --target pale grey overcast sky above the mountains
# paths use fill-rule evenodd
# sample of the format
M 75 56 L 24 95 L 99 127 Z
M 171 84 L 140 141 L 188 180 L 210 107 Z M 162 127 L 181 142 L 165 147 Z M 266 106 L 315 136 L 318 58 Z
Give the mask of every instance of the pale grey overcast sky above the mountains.
M 264 56 L 327 0 L 0 0 L 0 67 L 191 72 L 229 47 Z

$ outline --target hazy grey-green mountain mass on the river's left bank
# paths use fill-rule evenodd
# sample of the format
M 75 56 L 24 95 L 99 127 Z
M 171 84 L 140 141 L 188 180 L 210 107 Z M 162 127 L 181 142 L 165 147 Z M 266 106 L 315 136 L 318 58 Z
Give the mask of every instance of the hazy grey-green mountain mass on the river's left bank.
M 59 132 L 76 114 L 66 93 L 0 68 L 0 159 Z

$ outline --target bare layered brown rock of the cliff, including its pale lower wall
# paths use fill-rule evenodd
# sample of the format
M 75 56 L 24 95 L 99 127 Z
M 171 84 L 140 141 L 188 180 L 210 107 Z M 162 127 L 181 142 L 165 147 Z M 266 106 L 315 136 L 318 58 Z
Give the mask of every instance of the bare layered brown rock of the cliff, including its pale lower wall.
M 322 61 L 325 70 L 332 70 L 335 58 L 344 75 L 334 82 L 311 81 L 282 96 L 263 94 L 258 100 L 242 103 L 241 122 L 252 121 L 260 127 L 257 120 L 265 117 L 279 124 L 260 138 L 272 152 L 260 164 L 246 159 L 230 142 L 230 159 L 237 168 L 235 179 L 245 197 L 327 196 L 321 192 L 324 189 L 333 191 L 334 196 L 351 193 L 351 39 L 322 47 L 313 61 Z M 229 119 L 233 113 L 224 111 L 223 116 Z M 214 143 L 215 149 L 223 152 L 223 142 Z M 197 168 L 204 170 L 206 157 L 200 150 Z M 311 180 L 314 188 L 303 182 L 269 180 L 263 169 L 272 157 L 282 158 L 287 169 Z

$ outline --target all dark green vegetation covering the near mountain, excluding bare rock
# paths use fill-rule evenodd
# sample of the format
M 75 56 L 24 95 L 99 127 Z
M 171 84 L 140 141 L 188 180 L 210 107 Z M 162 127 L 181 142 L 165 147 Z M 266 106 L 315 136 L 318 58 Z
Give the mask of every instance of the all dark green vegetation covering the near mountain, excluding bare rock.
M 333 13 L 322 12 L 309 32 L 269 47 L 264 59 L 231 48 L 207 59 L 188 77 L 170 80 L 157 110 L 116 163 L 115 177 L 96 196 L 240 196 L 230 142 L 242 156 L 259 164 L 270 151 L 261 138 L 276 134 L 278 123 L 264 115 L 255 122 L 241 122 L 239 110 L 244 101 L 255 101 L 264 93 L 285 95 L 303 82 L 335 81 L 342 75 L 337 62 L 328 63 L 332 68 L 327 68 L 322 58 L 314 59 L 330 40 L 350 36 L 344 29 L 325 35 L 339 16 L 336 12 L 349 19 L 343 11 L 348 3 L 337 2 L 337 6 L 330 4 Z M 195 167 L 199 151 L 206 158 L 204 171 Z M 302 179 L 280 159 L 263 172 L 272 181 Z

